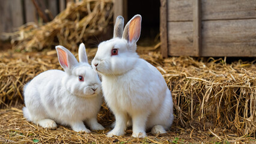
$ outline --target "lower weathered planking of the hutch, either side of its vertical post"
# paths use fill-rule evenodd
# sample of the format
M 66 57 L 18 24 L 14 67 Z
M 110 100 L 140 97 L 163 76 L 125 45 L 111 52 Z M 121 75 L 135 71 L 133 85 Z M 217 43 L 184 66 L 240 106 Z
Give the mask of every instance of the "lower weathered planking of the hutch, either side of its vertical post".
M 201 56 L 256 56 L 256 19 L 202 22 Z M 168 53 L 193 53 L 192 22 L 168 23 Z

